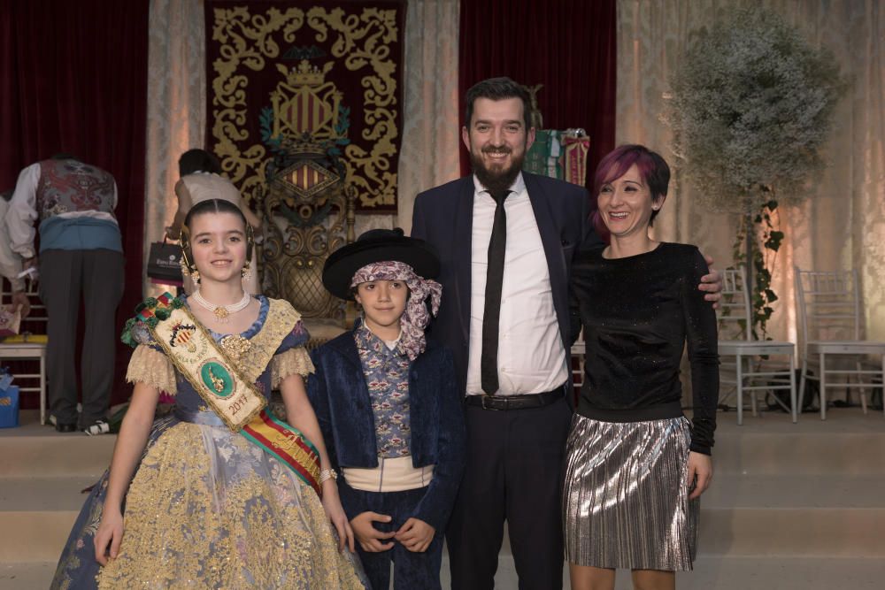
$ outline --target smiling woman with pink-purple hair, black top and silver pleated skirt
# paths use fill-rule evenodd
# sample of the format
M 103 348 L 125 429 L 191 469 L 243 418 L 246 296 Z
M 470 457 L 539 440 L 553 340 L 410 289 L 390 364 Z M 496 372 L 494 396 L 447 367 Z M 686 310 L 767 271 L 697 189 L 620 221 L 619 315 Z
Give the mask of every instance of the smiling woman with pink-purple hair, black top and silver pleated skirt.
M 563 519 L 573 589 L 675 587 L 696 555 L 698 497 L 712 478 L 719 395 L 716 317 L 698 291 L 695 246 L 655 241 L 670 169 L 639 145 L 596 170 L 611 244 L 579 255 L 573 314 L 587 347 L 581 398 L 566 443 Z M 694 399 L 682 415 L 679 366 L 688 342 Z

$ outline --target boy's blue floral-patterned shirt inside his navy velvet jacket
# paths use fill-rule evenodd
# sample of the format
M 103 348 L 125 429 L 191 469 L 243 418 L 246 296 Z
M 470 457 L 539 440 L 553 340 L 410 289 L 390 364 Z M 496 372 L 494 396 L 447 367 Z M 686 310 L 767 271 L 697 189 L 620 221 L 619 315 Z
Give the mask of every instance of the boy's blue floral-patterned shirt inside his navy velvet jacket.
M 366 375 L 375 421 L 378 456 L 410 456 L 409 357 L 399 345 L 391 350 L 365 325 L 354 332 L 359 360 Z

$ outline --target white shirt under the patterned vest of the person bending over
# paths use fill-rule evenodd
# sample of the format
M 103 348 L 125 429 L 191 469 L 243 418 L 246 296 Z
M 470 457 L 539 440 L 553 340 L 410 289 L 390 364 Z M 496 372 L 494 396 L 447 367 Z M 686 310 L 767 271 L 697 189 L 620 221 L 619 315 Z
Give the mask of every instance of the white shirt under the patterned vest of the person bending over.
M 34 227 L 37 213 L 37 185 L 40 183 L 40 163 L 27 166 L 19 172 L 19 180 L 15 183 L 15 193 L 12 194 L 12 202 L 6 213 L 6 228 L 9 230 L 9 239 L 12 251 L 17 252 L 23 258 L 34 257 Z M 113 185 L 113 206 L 117 207 L 117 183 Z M 59 218 L 96 218 L 111 221 L 114 225 L 117 218 L 111 213 L 104 211 L 68 211 L 60 213 Z

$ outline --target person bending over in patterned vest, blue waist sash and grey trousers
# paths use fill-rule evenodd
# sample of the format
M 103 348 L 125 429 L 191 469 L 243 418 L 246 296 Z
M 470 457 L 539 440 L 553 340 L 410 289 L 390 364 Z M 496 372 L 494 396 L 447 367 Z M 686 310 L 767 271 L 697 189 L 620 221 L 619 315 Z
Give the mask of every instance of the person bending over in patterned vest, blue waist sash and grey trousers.
M 46 348 L 52 418 L 58 432 L 78 428 L 74 371 L 81 298 L 86 313 L 81 359 L 82 412 L 87 434 L 109 432 L 116 334 L 114 313 L 123 295 L 123 246 L 111 174 L 69 155 L 19 173 L 6 226 L 25 269 L 39 269 L 39 293 L 49 318 Z M 37 228 L 35 231 L 35 221 Z M 35 234 L 40 234 L 40 257 Z

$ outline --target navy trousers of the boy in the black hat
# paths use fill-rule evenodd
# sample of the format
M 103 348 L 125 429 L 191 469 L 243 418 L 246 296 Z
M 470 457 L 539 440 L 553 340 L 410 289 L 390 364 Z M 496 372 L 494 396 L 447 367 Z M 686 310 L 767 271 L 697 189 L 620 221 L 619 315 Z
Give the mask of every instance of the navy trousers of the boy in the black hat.
M 361 512 L 386 514 L 389 523 L 374 523 L 375 528 L 384 533 L 399 530 L 412 516 L 418 502 L 424 497 L 426 487 L 404 492 L 364 492 L 338 480 L 344 511 L 350 517 Z M 423 553 L 414 553 L 404 548 L 396 539 L 393 547 L 381 553 L 368 553 L 357 543 L 359 559 L 366 570 L 366 576 L 373 590 L 388 590 L 390 587 L 390 562 L 393 562 L 394 590 L 441 590 L 440 566 L 443 561 L 443 531 L 436 531 L 434 540 Z

